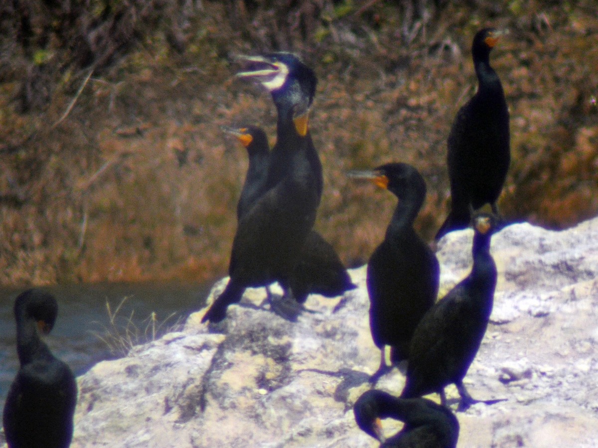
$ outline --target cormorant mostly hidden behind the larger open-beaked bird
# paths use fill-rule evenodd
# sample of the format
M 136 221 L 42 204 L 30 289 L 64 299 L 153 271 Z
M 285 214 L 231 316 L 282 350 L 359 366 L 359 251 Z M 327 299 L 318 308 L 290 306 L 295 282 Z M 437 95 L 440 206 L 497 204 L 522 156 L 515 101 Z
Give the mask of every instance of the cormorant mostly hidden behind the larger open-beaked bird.
M 270 147 L 266 133 L 260 127 L 246 126 L 223 129 L 236 136 L 245 146 L 249 155 L 249 167 L 237 204 L 237 219 L 240 220 L 264 193 Z M 334 247 L 314 230 L 307 234 L 288 285 L 283 285 L 283 287 L 291 288 L 292 295 L 298 303 L 304 303 L 307 296 L 312 293 L 336 297 L 347 290 L 356 288 Z

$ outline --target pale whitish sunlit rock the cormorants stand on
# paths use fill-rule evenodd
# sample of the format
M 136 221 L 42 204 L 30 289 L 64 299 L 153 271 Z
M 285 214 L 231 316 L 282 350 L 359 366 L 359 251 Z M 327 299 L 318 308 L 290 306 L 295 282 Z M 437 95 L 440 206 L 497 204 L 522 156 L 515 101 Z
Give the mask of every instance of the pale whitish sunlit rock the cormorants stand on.
M 471 238 L 440 242 L 441 294 L 469 271 Z M 598 219 L 562 232 L 511 225 L 492 254 L 495 306 L 465 382 L 476 398 L 507 400 L 457 413 L 459 446 L 598 446 Z M 358 289 L 310 296 L 316 312 L 297 323 L 259 308 L 264 289 L 251 289 L 213 332 L 202 310 L 184 331 L 97 364 L 79 378 L 73 446 L 376 446 L 353 419 L 379 351 L 365 267 L 350 274 Z M 398 394 L 403 383 L 394 369 L 377 387 Z M 447 394 L 454 410 L 457 392 Z M 384 424 L 388 434 L 400 428 Z

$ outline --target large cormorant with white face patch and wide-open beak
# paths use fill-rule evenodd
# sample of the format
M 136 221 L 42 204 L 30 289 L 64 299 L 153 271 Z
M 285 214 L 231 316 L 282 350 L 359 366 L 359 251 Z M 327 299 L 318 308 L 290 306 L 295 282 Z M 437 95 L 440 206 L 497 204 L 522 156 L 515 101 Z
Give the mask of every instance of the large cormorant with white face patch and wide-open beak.
M 272 95 L 278 112 L 277 141 L 264 193 L 237 226 L 230 281 L 203 322 L 223 320 L 228 305 L 238 303 L 247 287 L 288 284 L 322 195 L 322 165 L 307 120 L 316 91 L 313 70 L 291 53 L 243 59 L 252 66 L 237 76 L 257 79 Z

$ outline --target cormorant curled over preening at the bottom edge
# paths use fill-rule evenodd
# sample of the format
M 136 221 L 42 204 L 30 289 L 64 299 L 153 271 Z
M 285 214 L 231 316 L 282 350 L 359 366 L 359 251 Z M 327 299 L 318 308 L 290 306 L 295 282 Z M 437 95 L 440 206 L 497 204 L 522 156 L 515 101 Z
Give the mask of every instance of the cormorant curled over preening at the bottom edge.
M 454 448 L 459 421 L 449 408 L 426 398 L 397 398 L 387 392 L 364 392 L 353 406 L 359 428 L 382 443 L 381 447 Z M 385 439 L 380 419 L 405 422 L 397 434 Z

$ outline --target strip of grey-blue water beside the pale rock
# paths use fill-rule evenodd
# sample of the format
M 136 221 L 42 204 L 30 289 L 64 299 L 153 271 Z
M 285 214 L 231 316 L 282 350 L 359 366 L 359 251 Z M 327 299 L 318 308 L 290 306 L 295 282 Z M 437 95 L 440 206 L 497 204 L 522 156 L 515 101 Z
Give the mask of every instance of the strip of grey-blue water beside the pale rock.
M 106 301 L 114 310 L 127 297 L 118 316 L 124 321 L 133 313 L 133 321 L 145 328 L 151 312 L 158 322 L 173 312 L 167 324 L 177 317 L 185 318 L 200 309 L 211 284 L 152 283 L 152 284 L 83 284 L 48 287 L 58 301 L 58 318 L 50 335 L 45 336 L 54 355 L 64 360 L 75 373 L 81 375 L 98 361 L 111 358 L 105 343 L 93 332 L 108 326 Z M 16 327 L 13 303 L 20 289 L 0 289 L 0 415 L 8 388 L 19 368 L 16 353 Z

